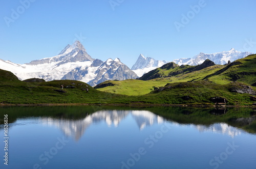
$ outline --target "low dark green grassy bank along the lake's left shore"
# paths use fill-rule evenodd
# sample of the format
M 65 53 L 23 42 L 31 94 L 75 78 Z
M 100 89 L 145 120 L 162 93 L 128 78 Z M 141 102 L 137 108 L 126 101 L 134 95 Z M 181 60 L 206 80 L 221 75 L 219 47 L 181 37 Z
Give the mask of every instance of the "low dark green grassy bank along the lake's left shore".
M 1 72 L 1 71 L 0 71 Z M 75 85 L 74 85 L 75 84 Z M 75 86 L 75 89 L 64 88 L 61 85 Z M 121 95 L 100 92 L 89 86 L 89 93 L 82 91 L 87 83 L 75 80 L 54 80 L 49 82 L 0 81 L 0 103 L 119 103 Z M 126 98 L 129 100 L 129 98 Z

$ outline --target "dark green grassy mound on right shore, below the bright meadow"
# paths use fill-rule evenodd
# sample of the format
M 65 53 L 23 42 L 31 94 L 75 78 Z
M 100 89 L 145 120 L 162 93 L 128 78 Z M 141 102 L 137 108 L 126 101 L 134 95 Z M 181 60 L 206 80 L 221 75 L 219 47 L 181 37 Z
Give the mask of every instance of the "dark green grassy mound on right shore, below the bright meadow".
M 161 92 L 151 92 L 144 97 L 157 98 L 156 103 L 176 103 L 176 104 L 212 104 L 210 98 L 222 97 L 227 99 L 229 105 L 251 105 L 250 94 L 231 93 L 228 89 L 237 86 L 237 83 L 227 85 L 217 85 L 208 81 L 170 83 L 170 89 Z M 183 96 L 191 99 L 184 100 Z

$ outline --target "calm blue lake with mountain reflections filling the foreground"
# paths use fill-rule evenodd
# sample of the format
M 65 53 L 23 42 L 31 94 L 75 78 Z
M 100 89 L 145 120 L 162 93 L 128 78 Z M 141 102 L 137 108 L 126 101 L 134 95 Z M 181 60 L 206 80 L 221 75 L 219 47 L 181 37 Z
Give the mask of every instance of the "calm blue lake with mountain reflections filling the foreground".
M 256 168 L 255 114 L 251 108 L 0 107 L 0 168 Z

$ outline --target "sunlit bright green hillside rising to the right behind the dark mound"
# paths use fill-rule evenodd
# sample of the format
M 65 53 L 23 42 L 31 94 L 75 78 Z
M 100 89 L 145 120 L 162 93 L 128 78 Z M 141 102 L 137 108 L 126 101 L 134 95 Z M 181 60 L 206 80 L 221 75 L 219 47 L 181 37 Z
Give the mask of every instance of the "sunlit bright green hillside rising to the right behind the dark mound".
M 161 68 L 152 70 L 142 76 L 141 79 L 158 77 L 151 80 L 123 80 L 123 81 L 108 81 L 104 83 L 113 83 L 113 86 L 107 86 L 98 89 L 99 91 L 125 94 L 125 95 L 143 95 L 148 94 L 154 87 L 163 87 L 167 83 L 175 82 L 192 82 L 209 80 L 217 85 L 228 84 L 231 81 L 245 82 L 248 85 L 253 85 L 256 82 L 256 55 L 252 54 L 244 59 L 237 60 L 230 65 L 213 65 L 209 61 L 203 67 L 198 66 L 177 66 L 173 63 L 168 63 Z M 203 69 L 202 69 L 203 68 Z M 100 85 L 102 85 L 100 84 Z M 253 85 L 255 86 L 255 85 Z M 256 90 L 255 87 L 252 87 Z

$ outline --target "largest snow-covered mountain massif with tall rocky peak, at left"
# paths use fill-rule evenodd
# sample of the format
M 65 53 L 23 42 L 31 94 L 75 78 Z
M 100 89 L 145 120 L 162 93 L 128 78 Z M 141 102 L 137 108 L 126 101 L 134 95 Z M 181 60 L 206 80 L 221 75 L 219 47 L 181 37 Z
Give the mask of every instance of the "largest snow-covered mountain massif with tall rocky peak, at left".
M 29 78 L 41 78 L 46 81 L 70 79 L 87 82 L 91 86 L 105 80 L 138 77 L 118 58 L 108 59 L 105 62 L 93 59 L 79 41 L 67 45 L 55 57 L 31 61 L 28 64 L 20 65 L 0 60 L 0 68 L 13 72 L 20 80 Z

